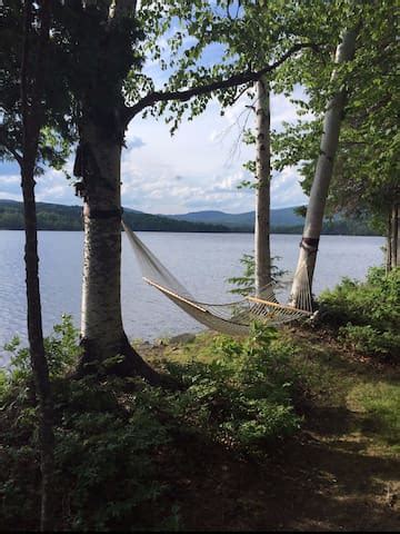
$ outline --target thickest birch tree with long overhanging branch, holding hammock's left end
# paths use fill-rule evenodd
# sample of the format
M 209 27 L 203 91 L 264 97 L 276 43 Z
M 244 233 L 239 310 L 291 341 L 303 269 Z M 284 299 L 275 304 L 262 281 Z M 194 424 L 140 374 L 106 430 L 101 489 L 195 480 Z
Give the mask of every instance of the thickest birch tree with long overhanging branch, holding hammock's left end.
M 238 66 L 228 71 L 199 68 L 196 75 L 186 77 L 184 72 L 190 69 L 183 61 L 179 76 L 171 77 L 169 88 L 158 91 L 153 90 L 151 80 L 140 75 L 140 38 L 143 36 L 134 9 L 133 2 L 122 0 L 112 3 L 66 0 L 58 4 L 54 39 L 59 48 L 66 50 L 62 65 L 70 73 L 68 83 L 77 102 L 80 137 L 74 175 L 79 178 L 77 191 L 83 198 L 81 335 L 84 355 L 79 374 L 97 370 L 99 363 L 111 360 L 111 372 L 139 374 L 152 384 L 160 384 L 159 375 L 129 344 L 121 317 L 120 158 L 124 130 L 147 108 L 158 106 L 154 112 L 162 112 L 172 102 L 170 110 L 179 120 L 186 102 L 193 98 L 193 115 L 204 109 L 212 95 L 219 95 L 224 101 L 234 99 L 238 87 L 252 86 L 291 56 L 310 48 L 310 43 L 291 41 L 271 63 L 244 71 Z M 151 4 L 148 18 L 154 14 L 152 10 Z M 196 61 L 197 53 L 194 47 L 184 57 L 190 63 Z M 141 86 L 138 79 L 144 80 Z M 143 91 L 148 91 L 147 95 L 143 96 Z M 178 108 L 173 102 L 182 106 Z M 114 358 L 116 355 L 120 357 Z

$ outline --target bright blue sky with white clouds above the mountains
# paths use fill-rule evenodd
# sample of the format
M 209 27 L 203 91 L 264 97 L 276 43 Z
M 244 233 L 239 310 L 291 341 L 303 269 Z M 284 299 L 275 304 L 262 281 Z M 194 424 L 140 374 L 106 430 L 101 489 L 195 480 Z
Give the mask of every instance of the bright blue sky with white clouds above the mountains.
M 211 61 L 216 51 L 211 53 Z M 157 62 L 147 65 L 157 86 L 166 81 Z M 301 88 L 294 98 L 303 97 Z M 150 214 L 184 214 L 221 210 L 232 214 L 254 207 L 254 191 L 238 189 L 243 179 L 251 179 L 243 164 L 256 159 L 254 147 L 246 146 L 240 135 L 246 123 L 251 127 L 254 113 L 244 95 L 223 116 L 212 100 L 207 110 L 192 121 L 183 121 L 171 137 L 162 118 L 136 117 L 127 131 L 127 148 L 122 152 L 122 205 Z M 297 119 L 296 108 L 283 95 L 272 95 L 271 126 L 280 130 L 282 121 Z M 73 157 L 66 169 L 72 174 Z M 273 174 L 272 208 L 307 202 L 294 168 Z M 47 169 L 37 180 L 37 200 L 63 205 L 80 205 L 71 184 L 62 171 Z M 21 200 L 19 168 L 0 162 L 0 199 Z

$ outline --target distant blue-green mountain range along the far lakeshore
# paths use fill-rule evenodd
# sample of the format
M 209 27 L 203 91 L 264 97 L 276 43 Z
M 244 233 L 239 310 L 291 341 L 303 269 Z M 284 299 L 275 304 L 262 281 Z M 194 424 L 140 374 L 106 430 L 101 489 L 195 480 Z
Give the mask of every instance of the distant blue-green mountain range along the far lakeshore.
M 81 230 L 81 206 L 38 202 L 38 229 Z M 139 231 L 253 231 L 254 211 L 226 214 L 223 211 L 193 211 L 183 215 L 150 215 L 124 208 L 124 219 Z M 271 231 L 274 234 L 301 234 L 304 219 L 296 208 L 271 210 Z M 0 229 L 23 229 L 22 202 L 0 200 Z M 377 235 L 366 220 L 336 218 L 324 221 L 323 234 Z

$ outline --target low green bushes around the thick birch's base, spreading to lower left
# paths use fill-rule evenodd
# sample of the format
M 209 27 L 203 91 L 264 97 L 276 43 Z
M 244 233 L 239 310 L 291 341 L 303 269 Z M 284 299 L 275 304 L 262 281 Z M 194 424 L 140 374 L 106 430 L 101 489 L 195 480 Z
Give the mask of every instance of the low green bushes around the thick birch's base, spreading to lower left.
M 186 385 L 166 392 L 107 375 L 69 379 L 78 337 L 70 318 L 62 325 L 46 342 L 59 530 L 176 528 L 179 516 L 162 466 L 190 457 L 182 436 L 259 455 L 299 427 L 297 377 L 289 370 L 293 349 L 271 329 L 254 325 L 242 342 L 216 338 L 209 363 L 166 364 Z M 10 348 L 12 369 L 0 375 L 1 520 L 6 530 L 30 531 L 38 528 L 40 510 L 37 411 L 28 352 L 17 342 Z

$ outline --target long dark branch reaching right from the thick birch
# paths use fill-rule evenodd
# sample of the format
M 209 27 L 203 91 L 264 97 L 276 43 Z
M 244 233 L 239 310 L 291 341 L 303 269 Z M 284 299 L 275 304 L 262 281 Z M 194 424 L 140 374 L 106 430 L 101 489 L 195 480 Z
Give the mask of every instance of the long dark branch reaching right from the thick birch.
M 236 86 L 242 86 L 244 83 L 252 83 L 259 80 L 262 76 L 267 75 L 276 70 L 280 67 L 287 59 L 291 56 L 297 53 L 298 51 L 310 48 L 312 50 L 318 50 L 318 46 L 316 43 L 298 43 L 291 47 L 287 52 L 281 56 L 277 61 L 267 67 L 258 70 L 258 71 L 246 71 L 239 72 L 233 75 L 224 80 L 214 80 L 210 83 L 206 83 L 204 86 L 196 86 L 191 89 L 186 90 L 178 90 L 178 91 L 154 91 L 150 92 L 146 97 L 143 97 L 139 102 L 134 106 L 127 107 L 124 110 L 124 126 L 127 127 L 129 122 L 136 117 L 138 113 L 143 111 L 143 109 L 154 106 L 158 102 L 166 102 L 169 100 L 177 100 L 180 102 L 186 102 L 193 97 L 198 97 L 200 95 L 207 95 L 209 92 L 217 91 L 219 89 L 229 89 Z

